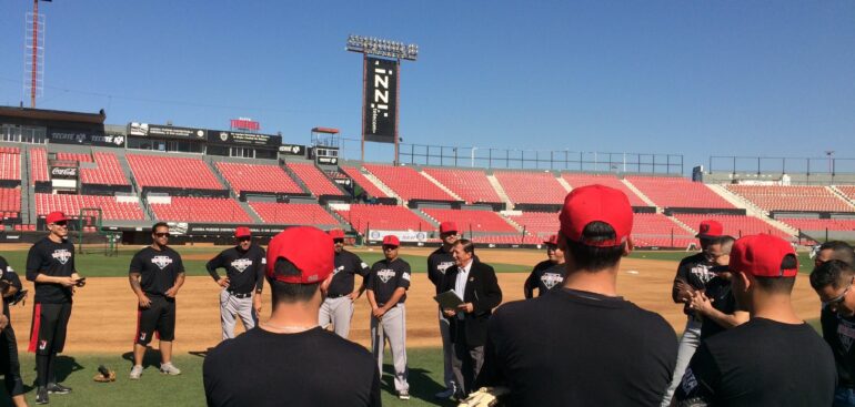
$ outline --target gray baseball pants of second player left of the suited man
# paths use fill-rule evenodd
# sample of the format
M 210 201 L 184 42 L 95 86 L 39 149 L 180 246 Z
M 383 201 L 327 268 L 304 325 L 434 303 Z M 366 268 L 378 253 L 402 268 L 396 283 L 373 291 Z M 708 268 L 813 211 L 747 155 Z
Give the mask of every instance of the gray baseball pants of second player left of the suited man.
M 378 369 L 383 376 L 383 347 L 389 340 L 392 364 L 395 368 L 395 391 L 409 391 L 406 383 L 406 308 L 398 304 L 383 314 L 381 319 L 371 316 L 371 353 L 378 360 Z

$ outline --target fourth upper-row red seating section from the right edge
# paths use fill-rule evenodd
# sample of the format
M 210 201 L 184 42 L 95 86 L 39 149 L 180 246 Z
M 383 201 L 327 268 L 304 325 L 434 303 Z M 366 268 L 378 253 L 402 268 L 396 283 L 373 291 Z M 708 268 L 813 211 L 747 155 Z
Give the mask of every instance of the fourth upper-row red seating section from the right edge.
M 514 204 L 561 204 L 567 195 L 551 172 L 496 171 L 493 175 Z

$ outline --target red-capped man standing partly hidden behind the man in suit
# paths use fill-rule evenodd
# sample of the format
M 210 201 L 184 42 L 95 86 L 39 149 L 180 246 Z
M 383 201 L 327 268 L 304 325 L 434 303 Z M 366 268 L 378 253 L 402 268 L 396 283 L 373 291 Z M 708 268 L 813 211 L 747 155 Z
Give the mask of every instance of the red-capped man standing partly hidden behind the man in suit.
M 454 266 L 454 256 L 451 250 L 457 243 L 457 224 L 451 221 L 440 223 L 440 240 L 442 245 L 428 256 L 428 278 L 436 288 L 436 295 L 442 292 L 443 278 L 449 267 Z M 443 362 L 443 381 L 445 389 L 435 395 L 436 398 L 450 398 L 457 393 L 461 387 L 454 379 L 454 372 L 451 366 L 454 344 L 452 344 L 450 320 L 440 314 L 440 337 L 442 337 L 442 362 Z

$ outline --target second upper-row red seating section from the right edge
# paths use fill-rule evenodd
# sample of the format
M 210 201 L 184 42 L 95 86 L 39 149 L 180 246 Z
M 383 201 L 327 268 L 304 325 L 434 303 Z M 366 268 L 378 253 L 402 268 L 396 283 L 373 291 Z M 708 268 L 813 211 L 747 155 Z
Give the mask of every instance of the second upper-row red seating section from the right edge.
M 676 176 L 626 176 L 641 193 L 661 207 L 735 208 L 708 186 Z

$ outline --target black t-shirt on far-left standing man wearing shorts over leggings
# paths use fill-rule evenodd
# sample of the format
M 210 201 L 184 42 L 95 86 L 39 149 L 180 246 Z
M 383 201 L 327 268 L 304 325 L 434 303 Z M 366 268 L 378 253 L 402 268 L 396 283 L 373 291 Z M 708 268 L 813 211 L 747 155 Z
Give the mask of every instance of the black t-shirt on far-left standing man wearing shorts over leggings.
M 68 240 L 57 243 L 44 237 L 30 247 L 27 254 L 27 279 L 36 276 L 70 277 L 74 273 L 74 245 Z M 36 302 L 64 304 L 71 302 L 71 287 L 60 284 L 36 283 Z

